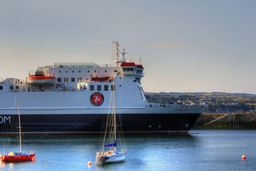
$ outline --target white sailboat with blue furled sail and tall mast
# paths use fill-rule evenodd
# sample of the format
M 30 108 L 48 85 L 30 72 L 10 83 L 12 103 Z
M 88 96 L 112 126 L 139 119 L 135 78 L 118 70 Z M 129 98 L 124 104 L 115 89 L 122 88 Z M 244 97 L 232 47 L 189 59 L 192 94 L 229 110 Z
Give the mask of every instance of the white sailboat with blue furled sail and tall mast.
M 100 149 L 100 152 L 96 152 L 97 156 L 95 164 L 121 162 L 124 161 L 126 155 L 127 147 L 125 143 L 124 134 L 122 131 L 121 115 L 116 114 L 115 80 L 113 80 L 113 87 L 111 89 L 113 92 L 112 114 L 110 114 L 109 110 L 103 145 Z M 108 138 L 106 138 L 107 134 L 109 134 Z M 117 148 L 117 146 L 119 146 L 119 148 Z

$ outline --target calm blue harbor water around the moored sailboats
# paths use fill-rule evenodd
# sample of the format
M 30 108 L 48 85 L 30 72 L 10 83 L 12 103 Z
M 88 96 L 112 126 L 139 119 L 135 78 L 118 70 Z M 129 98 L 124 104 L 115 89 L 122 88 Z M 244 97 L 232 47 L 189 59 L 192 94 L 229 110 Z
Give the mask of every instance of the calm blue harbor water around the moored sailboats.
M 36 160 L 0 170 L 256 170 L 256 130 L 190 130 L 188 135 L 126 136 L 124 162 L 94 165 L 103 136 L 25 136 Z M 0 136 L 0 150 L 5 141 Z M 10 137 L 16 144 L 16 136 Z M 246 160 L 242 160 L 246 155 Z M 93 164 L 88 165 L 91 161 Z

